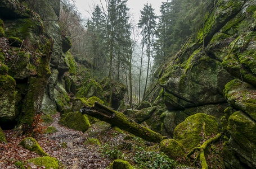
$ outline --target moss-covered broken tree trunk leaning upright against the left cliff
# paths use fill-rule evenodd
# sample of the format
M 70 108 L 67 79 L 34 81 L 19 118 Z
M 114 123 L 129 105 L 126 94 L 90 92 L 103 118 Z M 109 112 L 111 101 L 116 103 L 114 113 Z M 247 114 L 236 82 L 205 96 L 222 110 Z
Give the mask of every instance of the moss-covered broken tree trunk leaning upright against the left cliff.
M 44 50 L 40 59 L 37 76 L 29 78 L 28 93 L 25 96 L 24 104 L 21 109 L 19 134 L 24 134 L 33 124 L 35 113 L 41 110 L 44 91 L 48 85 L 51 71 L 49 68 L 53 39 L 51 38 L 44 45 Z

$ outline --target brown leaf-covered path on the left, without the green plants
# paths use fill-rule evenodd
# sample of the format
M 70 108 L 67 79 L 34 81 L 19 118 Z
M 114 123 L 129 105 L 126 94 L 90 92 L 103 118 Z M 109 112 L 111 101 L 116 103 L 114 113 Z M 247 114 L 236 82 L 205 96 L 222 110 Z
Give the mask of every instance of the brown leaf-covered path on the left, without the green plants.
M 58 159 L 65 168 L 106 168 L 111 161 L 99 152 L 99 145 L 84 144 L 88 135 L 58 124 L 60 114 L 53 116 L 52 126 L 58 130 L 52 134 L 34 137 L 49 156 Z M 26 136 L 16 137 L 13 130 L 4 130 L 7 144 L 0 143 L 0 168 L 19 168 L 15 162 L 40 157 L 23 148 L 19 143 Z M 25 168 L 44 168 L 24 163 Z

